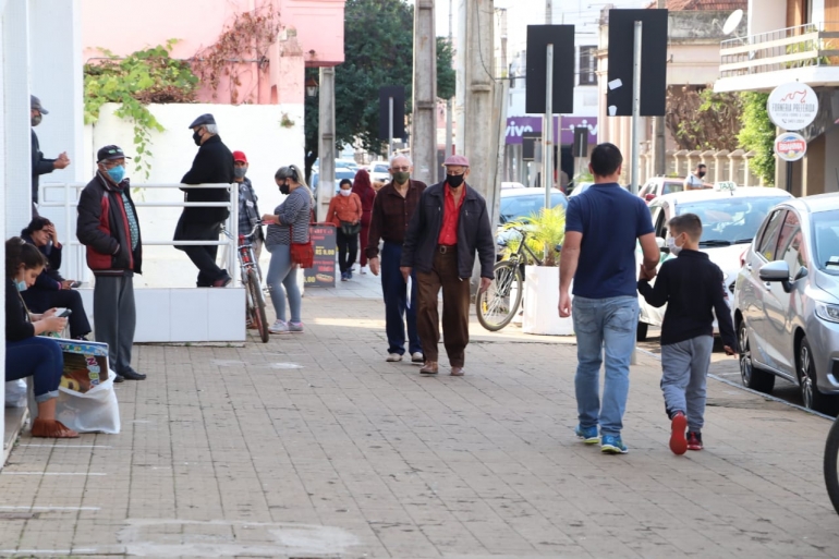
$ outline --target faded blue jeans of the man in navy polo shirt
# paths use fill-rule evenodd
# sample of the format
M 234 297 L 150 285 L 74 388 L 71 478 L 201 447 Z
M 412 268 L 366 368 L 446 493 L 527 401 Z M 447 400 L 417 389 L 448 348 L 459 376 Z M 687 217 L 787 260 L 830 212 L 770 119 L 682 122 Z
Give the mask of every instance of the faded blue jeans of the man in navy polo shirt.
M 620 435 L 629 393 L 629 366 L 639 321 L 636 296 L 574 297 L 571 316 L 576 333 L 576 409 L 581 427 Z M 606 381 L 600 405 L 600 364 Z

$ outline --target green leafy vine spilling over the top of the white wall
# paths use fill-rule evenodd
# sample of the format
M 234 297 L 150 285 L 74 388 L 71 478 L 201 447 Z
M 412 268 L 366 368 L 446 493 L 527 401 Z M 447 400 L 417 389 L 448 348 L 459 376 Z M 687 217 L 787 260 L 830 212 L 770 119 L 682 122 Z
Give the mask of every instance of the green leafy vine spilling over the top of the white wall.
M 198 78 L 187 62 L 172 59 L 169 53 L 178 39 L 165 46 L 138 50 L 120 58 L 102 50 L 106 59 L 84 66 L 85 123 L 99 120 L 106 102 L 120 104 L 115 114 L 134 123 L 134 163 L 148 178 L 151 169 L 150 132 L 163 126 L 146 107 L 151 102 L 195 102 Z

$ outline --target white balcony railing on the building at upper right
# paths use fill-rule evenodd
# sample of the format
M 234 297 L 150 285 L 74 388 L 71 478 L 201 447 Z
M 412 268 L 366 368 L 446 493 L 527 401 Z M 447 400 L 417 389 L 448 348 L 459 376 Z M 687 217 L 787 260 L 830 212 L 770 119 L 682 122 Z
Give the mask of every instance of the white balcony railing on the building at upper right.
M 721 77 L 839 66 L 839 23 L 808 23 L 724 40 L 719 53 Z

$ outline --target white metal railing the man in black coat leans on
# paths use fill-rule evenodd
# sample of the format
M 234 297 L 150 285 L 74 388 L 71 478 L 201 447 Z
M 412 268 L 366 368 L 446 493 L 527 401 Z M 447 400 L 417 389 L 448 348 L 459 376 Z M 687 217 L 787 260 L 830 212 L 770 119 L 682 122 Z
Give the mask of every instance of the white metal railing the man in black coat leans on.
M 71 264 L 71 272 L 80 274 L 86 267 L 84 245 L 78 242 L 75 234 L 76 224 L 76 208 L 78 207 L 78 198 L 82 190 L 87 183 L 44 183 L 40 185 L 40 192 L 38 199 L 40 199 L 39 208 L 64 208 L 64 240 L 62 244 L 69 248 L 64 254 L 64 262 Z M 134 206 L 137 208 L 228 208 L 230 210 L 230 217 L 227 220 L 227 228 L 233 233 L 232 239 L 221 239 L 219 235 L 218 241 L 174 241 L 174 240 L 143 240 L 145 246 L 223 246 L 224 254 L 222 259 L 226 263 L 226 267 L 230 272 L 230 277 L 233 278 L 232 287 L 239 287 L 241 281 L 239 274 L 234 274 L 234 270 L 239 269 L 238 260 L 238 243 L 239 243 L 239 184 L 232 183 L 218 183 L 218 184 L 190 184 L 182 183 L 148 183 L 148 184 L 132 184 L 132 193 L 142 190 L 173 190 L 173 189 L 226 189 L 230 193 L 230 202 L 134 202 Z M 62 200 L 50 202 L 46 196 L 48 190 L 61 190 L 64 197 Z M 143 231 L 143 214 L 137 211 L 137 221 L 139 222 L 139 229 Z M 173 235 L 174 230 L 171 231 Z M 75 269 L 72 269 L 75 267 Z M 78 276 L 81 278 L 81 276 Z

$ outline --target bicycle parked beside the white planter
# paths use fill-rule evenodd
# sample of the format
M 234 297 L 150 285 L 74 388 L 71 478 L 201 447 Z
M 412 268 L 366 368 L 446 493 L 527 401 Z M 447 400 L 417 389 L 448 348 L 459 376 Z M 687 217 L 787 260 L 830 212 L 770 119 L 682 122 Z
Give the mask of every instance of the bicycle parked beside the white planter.
M 519 248 L 506 260 L 496 263 L 489 288 L 475 297 L 475 314 L 481 326 L 496 332 L 510 324 L 522 304 L 522 270 L 527 257 L 537 266 L 542 259 L 536 256 L 525 242 L 527 231 L 511 227 L 510 230 L 521 235 Z

